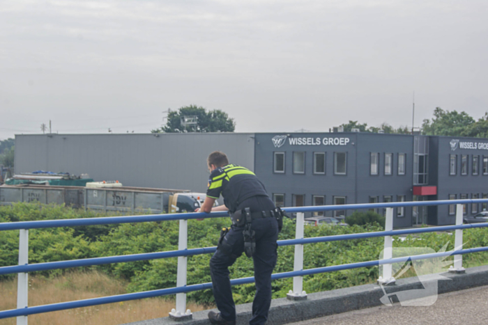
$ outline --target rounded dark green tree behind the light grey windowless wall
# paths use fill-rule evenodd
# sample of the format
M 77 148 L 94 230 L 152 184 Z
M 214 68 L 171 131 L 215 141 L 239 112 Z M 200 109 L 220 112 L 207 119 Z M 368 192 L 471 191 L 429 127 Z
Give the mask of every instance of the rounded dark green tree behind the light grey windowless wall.
M 195 116 L 197 125 L 181 125 L 181 118 L 184 116 Z M 175 132 L 234 132 L 236 122 L 233 118 L 220 109 L 207 111 L 204 107 L 190 105 L 183 106 L 178 111 L 170 111 L 165 126 L 151 130 L 152 133 L 175 133 Z

